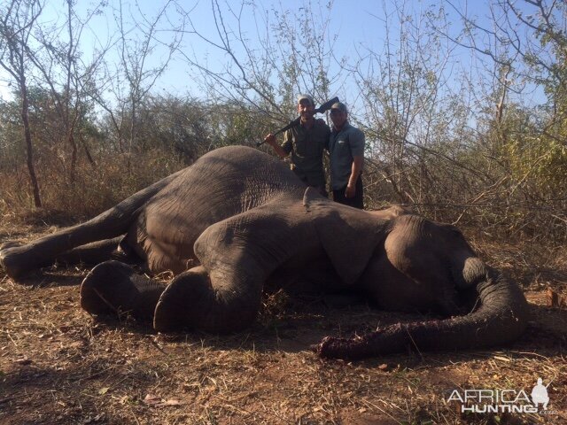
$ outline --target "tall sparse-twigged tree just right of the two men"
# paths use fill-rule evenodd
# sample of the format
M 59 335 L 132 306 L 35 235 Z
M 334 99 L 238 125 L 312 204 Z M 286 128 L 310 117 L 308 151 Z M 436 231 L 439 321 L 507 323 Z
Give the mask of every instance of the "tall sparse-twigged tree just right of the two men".
M 384 2 L 383 11 L 384 19 L 375 16 L 385 27 L 383 50 L 361 45 L 353 66 L 365 106 L 360 123 L 369 144 L 365 174 L 377 189 L 368 194 L 378 205 L 393 197 L 436 213 L 451 195 L 462 193 L 460 179 L 446 179 L 447 174 L 478 174 L 458 160 L 470 112 L 462 94 L 470 87 L 455 79 L 454 48 L 431 26 L 431 20 L 446 25 L 442 8 L 422 12 L 403 2 L 391 9 Z

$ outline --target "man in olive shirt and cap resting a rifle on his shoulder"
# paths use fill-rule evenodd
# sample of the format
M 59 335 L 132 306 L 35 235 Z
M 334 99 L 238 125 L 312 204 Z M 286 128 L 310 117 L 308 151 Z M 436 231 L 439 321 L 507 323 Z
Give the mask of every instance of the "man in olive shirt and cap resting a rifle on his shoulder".
M 325 190 L 325 174 L 322 168 L 322 151 L 329 143 L 330 129 L 324 120 L 315 120 L 315 103 L 307 95 L 298 97 L 299 126 L 283 133 L 283 143 L 277 144 L 276 136 L 271 133 L 264 141 L 281 157 L 291 153 L 291 169 L 307 184 L 323 196 Z

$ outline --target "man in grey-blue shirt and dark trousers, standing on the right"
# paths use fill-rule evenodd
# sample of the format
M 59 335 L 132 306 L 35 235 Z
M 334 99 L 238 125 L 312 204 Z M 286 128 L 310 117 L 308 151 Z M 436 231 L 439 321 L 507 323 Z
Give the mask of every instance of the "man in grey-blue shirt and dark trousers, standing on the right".
M 346 105 L 330 107 L 333 128 L 327 149 L 330 153 L 330 187 L 333 199 L 355 208 L 364 208 L 362 166 L 364 165 L 364 133 L 348 123 Z

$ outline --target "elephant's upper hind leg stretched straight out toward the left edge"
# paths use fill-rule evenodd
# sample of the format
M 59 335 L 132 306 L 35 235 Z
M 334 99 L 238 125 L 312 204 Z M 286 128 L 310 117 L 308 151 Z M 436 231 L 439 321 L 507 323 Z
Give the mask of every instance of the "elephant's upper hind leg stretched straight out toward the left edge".
M 36 268 L 49 266 L 61 254 L 78 246 L 125 234 L 139 209 L 182 172 L 183 170 L 155 182 L 85 223 L 43 236 L 26 245 L 4 243 L 0 247 L 0 267 L 10 277 L 18 278 Z

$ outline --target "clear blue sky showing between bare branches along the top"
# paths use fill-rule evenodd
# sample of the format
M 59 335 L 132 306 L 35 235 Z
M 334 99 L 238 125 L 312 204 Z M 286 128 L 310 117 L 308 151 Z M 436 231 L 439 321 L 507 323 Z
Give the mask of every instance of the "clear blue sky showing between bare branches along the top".
M 92 0 L 81 0 L 76 2 L 77 12 L 85 16 L 85 14 L 96 7 L 97 2 Z M 151 19 L 155 16 L 159 9 L 165 4 L 165 1 L 157 0 L 123 0 L 123 10 L 136 10 L 136 7 L 142 11 L 144 18 Z M 249 2 L 248 2 L 249 3 Z M 351 65 L 357 58 L 363 57 L 369 50 L 381 52 L 384 50 L 386 38 L 394 46 L 399 41 L 399 33 L 397 25 L 399 21 L 398 13 L 395 5 L 400 4 L 405 8 L 408 15 L 417 16 L 420 12 L 424 12 L 431 4 L 439 4 L 436 1 L 429 0 L 407 0 L 406 2 L 394 0 L 335 0 L 332 2 L 330 12 L 328 12 L 328 2 L 324 0 L 255 0 L 254 10 L 256 16 L 252 13 L 245 13 L 241 17 L 242 28 L 244 28 L 245 36 L 248 37 L 254 46 L 257 40 L 260 28 L 260 34 L 265 31 L 265 23 L 261 21 L 262 17 L 268 16 L 270 22 L 274 21 L 274 12 L 285 13 L 292 11 L 297 13 L 305 12 L 305 5 L 311 4 L 311 8 L 315 11 L 315 15 L 321 17 L 324 21 L 327 15 L 329 17 L 329 27 L 327 34 L 330 39 L 336 37 L 333 50 L 338 58 L 346 58 L 347 64 Z M 210 37 L 215 42 L 219 42 L 218 35 L 214 33 L 214 13 L 213 5 L 210 0 L 178 0 L 185 11 L 190 11 L 189 16 L 196 30 L 201 35 Z M 237 20 L 231 15 L 238 12 L 238 5 L 241 4 L 237 0 L 219 0 L 223 16 L 226 19 L 226 25 L 231 30 L 237 29 Z M 479 19 L 479 22 L 486 22 L 489 16 L 489 6 L 485 1 L 472 1 L 470 4 L 466 0 L 455 0 L 451 2 L 460 12 L 466 13 Z M 472 7 L 471 7 L 472 5 Z M 96 56 L 96 50 L 101 49 L 109 42 L 113 42 L 117 34 L 117 24 L 113 17 L 117 10 L 118 2 L 109 0 L 108 5 L 101 9 L 102 13 L 98 14 L 89 21 L 89 26 L 85 28 L 82 34 L 82 53 L 85 60 Z M 250 11 L 250 7 L 246 7 L 246 11 Z M 455 23 L 458 22 L 457 14 L 451 12 L 452 8 L 447 4 L 447 12 L 450 12 L 449 19 Z M 58 19 L 63 19 L 65 11 L 63 0 L 46 0 L 46 7 L 43 13 L 44 25 L 54 24 Z M 168 14 L 169 19 L 176 21 L 175 13 Z M 127 25 L 128 27 L 128 25 Z M 386 29 L 388 33 L 386 34 Z M 135 32 L 130 33 L 132 39 L 136 40 Z M 299 36 L 301 36 L 299 34 Z M 172 39 L 172 35 L 167 32 L 159 32 L 158 37 L 168 42 Z M 221 69 L 229 60 L 225 54 L 221 54 L 218 49 L 207 46 L 206 42 L 199 40 L 194 34 L 186 34 L 181 50 L 187 55 L 202 60 L 207 66 L 215 69 Z M 454 50 L 454 60 L 458 66 L 467 68 L 470 66 L 470 50 Z M 155 50 L 149 58 L 150 64 L 159 64 L 165 58 L 165 50 L 156 46 Z M 154 65 L 154 66 L 156 66 Z M 168 66 L 167 73 L 156 83 L 154 91 L 165 90 L 174 94 L 187 94 L 191 97 L 203 97 L 203 89 L 199 86 L 195 77 L 195 70 L 190 69 L 183 58 L 175 57 Z M 0 96 L 4 99 L 10 97 L 10 88 L 8 87 L 6 74 L 0 71 Z M 353 81 L 338 81 L 338 87 L 335 88 L 342 96 L 350 97 L 351 102 L 356 102 L 356 90 L 353 87 Z

